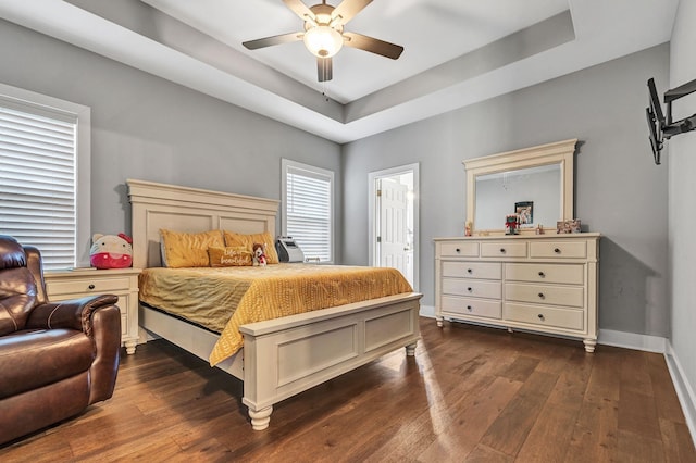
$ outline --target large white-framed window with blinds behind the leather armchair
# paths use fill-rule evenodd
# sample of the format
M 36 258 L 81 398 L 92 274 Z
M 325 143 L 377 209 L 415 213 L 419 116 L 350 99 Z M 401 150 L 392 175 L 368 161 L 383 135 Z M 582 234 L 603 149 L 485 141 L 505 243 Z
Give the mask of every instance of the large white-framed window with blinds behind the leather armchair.
M 89 108 L 0 84 L 0 234 L 89 263 Z

